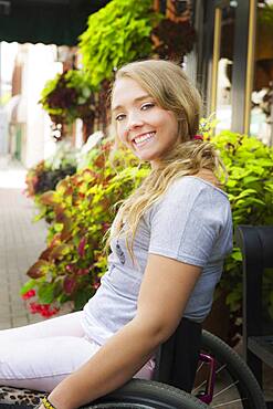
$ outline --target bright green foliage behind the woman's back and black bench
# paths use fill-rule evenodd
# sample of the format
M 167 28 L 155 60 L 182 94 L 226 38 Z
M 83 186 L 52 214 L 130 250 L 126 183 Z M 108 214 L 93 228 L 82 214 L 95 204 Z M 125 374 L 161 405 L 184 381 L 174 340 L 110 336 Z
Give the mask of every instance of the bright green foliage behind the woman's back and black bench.
M 273 224 L 273 149 L 254 137 L 231 132 L 222 132 L 212 141 L 220 150 L 229 174 L 225 191 L 231 202 L 234 227 Z M 240 314 L 242 306 L 241 260 L 241 252 L 234 245 L 220 282 L 230 311 L 235 315 Z M 265 281 L 272 280 L 271 273 L 265 274 Z M 272 313 L 273 292 L 265 292 L 264 303 Z

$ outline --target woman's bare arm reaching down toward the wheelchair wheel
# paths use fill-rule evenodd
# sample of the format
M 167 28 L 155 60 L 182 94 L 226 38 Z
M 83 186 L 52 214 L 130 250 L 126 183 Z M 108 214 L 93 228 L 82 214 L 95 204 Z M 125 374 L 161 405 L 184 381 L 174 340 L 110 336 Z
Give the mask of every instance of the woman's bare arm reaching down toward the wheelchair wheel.
M 136 317 L 51 394 L 57 409 L 75 409 L 129 380 L 176 329 L 201 269 L 149 254 Z

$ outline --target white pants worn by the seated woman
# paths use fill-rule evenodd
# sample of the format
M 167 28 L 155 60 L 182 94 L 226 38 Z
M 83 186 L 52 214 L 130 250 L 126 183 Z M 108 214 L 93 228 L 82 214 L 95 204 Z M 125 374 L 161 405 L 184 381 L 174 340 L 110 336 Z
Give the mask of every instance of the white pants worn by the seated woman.
M 0 385 L 51 391 L 85 364 L 99 345 L 85 336 L 81 314 L 0 331 Z M 136 377 L 150 379 L 153 364 L 149 360 Z

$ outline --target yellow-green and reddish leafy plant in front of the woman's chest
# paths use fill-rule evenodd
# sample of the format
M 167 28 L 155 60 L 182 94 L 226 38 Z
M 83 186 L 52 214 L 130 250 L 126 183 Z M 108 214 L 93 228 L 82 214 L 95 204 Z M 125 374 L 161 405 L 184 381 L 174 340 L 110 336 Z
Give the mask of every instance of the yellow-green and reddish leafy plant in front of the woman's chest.
M 41 214 L 51 212 L 48 248 L 29 269 L 30 281 L 22 287 L 25 296 L 38 296 L 30 308 L 53 314 L 61 304 L 71 302 L 80 310 L 94 294 L 107 259 L 102 241 L 114 212 L 112 207 L 138 185 L 146 174 L 138 171 L 136 159 L 122 153 L 109 161 L 109 143 L 93 150 L 90 168 L 60 181 L 54 191 L 39 197 Z M 123 170 L 122 170 L 123 169 Z M 49 312 L 46 305 L 52 305 Z

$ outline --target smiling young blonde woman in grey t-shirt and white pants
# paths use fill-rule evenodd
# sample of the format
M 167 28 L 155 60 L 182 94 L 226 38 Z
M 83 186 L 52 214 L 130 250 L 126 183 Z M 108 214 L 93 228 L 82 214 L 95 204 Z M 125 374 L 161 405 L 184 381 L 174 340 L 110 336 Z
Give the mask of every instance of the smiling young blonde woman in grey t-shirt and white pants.
M 78 408 L 134 376 L 151 378 L 155 353 L 181 317 L 208 315 L 232 221 L 220 159 L 196 138 L 200 105 L 175 63 L 117 72 L 118 140 L 150 172 L 117 213 L 108 270 L 83 312 L 0 332 L 0 385 L 48 391 L 41 408 Z

